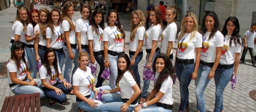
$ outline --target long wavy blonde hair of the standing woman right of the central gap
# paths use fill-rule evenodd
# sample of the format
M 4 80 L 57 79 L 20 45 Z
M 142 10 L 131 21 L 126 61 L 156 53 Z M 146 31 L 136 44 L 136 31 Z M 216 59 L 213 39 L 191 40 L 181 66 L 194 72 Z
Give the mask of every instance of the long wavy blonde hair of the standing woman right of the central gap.
M 141 26 L 144 26 L 145 23 L 146 23 L 146 19 L 144 17 L 144 14 L 141 10 L 134 10 L 132 12 L 132 16 L 134 14 L 137 14 L 139 16 L 139 19 L 140 19 L 140 23 L 138 23 L 137 25 L 134 24 L 134 22 L 132 21 L 131 19 L 131 35 L 130 35 L 130 40 L 133 41 L 135 35 L 136 35 L 136 32 L 137 32 L 137 29 Z

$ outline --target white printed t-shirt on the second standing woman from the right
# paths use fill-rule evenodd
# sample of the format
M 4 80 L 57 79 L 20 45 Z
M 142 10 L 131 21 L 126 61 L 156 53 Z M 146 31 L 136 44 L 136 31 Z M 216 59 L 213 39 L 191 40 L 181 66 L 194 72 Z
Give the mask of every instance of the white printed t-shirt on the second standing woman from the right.
M 224 36 L 220 31 L 217 31 L 215 35 L 209 40 L 209 35 L 211 32 L 206 32 L 204 34 L 203 46 L 200 59 L 207 63 L 214 63 L 216 57 L 216 47 L 223 47 Z

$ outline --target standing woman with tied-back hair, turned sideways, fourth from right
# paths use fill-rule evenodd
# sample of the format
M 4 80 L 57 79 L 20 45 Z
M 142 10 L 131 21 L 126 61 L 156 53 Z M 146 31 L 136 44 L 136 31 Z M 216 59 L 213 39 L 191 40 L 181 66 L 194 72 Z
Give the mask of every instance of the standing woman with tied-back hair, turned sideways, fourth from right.
M 164 31 L 161 33 L 161 47 L 160 53 L 165 53 L 170 60 L 173 59 L 172 46 L 175 41 L 176 33 L 177 33 L 177 25 L 176 21 L 176 6 L 170 6 L 166 8 L 165 11 L 165 20 L 167 22 L 167 26 Z

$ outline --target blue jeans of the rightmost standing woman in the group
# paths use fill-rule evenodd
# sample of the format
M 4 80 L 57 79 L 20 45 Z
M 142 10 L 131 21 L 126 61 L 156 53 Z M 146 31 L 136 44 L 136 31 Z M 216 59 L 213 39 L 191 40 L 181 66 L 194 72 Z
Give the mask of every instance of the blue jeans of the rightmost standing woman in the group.
M 230 69 L 217 68 L 215 71 L 214 82 L 216 86 L 216 92 L 215 92 L 214 112 L 221 112 L 224 109 L 223 91 L 227 86 L 228 82 L 230 81 L 233 71 L 234 71 L 234 67 Z

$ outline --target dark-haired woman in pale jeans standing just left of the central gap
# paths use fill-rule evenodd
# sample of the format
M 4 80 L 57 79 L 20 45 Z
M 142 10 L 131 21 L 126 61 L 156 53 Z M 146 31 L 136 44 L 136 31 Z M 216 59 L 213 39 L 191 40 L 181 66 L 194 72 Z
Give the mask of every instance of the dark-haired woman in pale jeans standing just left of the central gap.
M 116 10 L 108 13 L 108 26 L 103 31 L 104 41 L 104 66 L 110 69 L 109 86 L 116 88 L 117 58 L 118 54 L 125 51 L 125 33 Z

